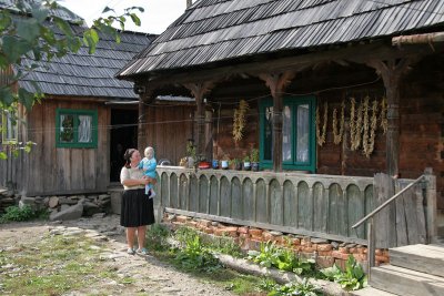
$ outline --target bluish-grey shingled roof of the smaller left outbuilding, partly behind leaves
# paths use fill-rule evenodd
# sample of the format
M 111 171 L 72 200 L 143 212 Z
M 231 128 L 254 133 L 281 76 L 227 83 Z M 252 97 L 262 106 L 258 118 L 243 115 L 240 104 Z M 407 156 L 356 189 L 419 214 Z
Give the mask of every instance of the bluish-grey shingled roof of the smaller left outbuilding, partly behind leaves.
M 40 4 L 40 0 L 26 0 L 26 8 Z M 50 16 L 67 20 L 77 34 L 85 30 L 83 19 L 61 7 L 51 10 Z M 12 0 L 1 0 L 0 9 L 19 12 Z M 17 16 L 21 18 L 26 16 Z M 48 25 L 53 25 L 48 20 Z M 50 62 L 38 62 L 40 65 L 19 81 L 20 86 L 34 92 L 32 83 L 37 83 L 46 94 L 65 96 L 93 96 L 118 100 L 134 100 L 139 96 L 133 92 L 133 83 L 115 79 L 115 73 L 122 69 L 135 54 L 145 49 L 157 35 L 124 31 L 121 32 L 118 44 L 110 35 L 101 35 L 93 54 L 82 47 L 77 53 L 69 52 L 62 58 L 53 58 Z M 22 65 L 36 63 L 22 59 Z

